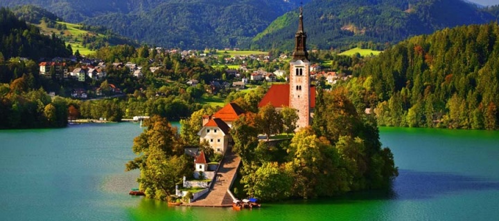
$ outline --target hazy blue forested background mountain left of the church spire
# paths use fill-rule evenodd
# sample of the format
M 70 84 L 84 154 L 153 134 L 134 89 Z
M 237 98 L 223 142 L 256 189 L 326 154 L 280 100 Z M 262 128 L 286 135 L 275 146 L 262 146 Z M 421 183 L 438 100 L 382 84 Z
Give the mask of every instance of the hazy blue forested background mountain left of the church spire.
M 305 3 L 308 1 L 304 1 Z M 105 26 L 147 44 L 182 48 L 248 45 L 299 0 L 2 0 L 33 4 L 72 23 Z

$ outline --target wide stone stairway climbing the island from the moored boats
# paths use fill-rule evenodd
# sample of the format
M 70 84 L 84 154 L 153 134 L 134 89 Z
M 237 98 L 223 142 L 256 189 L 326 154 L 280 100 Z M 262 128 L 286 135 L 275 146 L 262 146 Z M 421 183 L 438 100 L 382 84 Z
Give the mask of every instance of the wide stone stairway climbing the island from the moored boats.
M 224 160 L 220 164 L 220 169 L 218 170 L 218 175 L 220 179 L 213 185 L 207 194 L 198 198 L 195 202 L 190 204 L 183 204 L 185 206 L 209 206 L 209 207 L 225 207 L 232 206 L 232 198 L 227 189 L 230 188 L 230 184 L 240 163 L 240 157 L 234 154 L 229 148 L 227 153 L 225 153 Z

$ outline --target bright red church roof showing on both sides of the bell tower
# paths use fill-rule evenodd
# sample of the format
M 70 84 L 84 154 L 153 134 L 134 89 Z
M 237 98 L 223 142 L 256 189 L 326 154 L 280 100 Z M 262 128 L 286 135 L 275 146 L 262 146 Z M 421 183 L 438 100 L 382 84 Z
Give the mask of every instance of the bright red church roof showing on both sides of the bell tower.
M 259 103 L 259 108 L 268 103 L 276 108 L 289 106 L 289 84 L 272 84 Z M 310 87 L 310 108 L 315 108 L 315 86 Z

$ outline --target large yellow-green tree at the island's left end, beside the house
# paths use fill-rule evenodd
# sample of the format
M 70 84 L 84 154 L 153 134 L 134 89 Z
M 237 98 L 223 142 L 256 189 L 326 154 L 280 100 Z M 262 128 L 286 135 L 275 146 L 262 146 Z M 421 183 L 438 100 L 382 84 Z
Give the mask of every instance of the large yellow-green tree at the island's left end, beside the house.
M 139 188 L 148 198 L 166 200 L 183 176 L 192 174 L 193 159 L 184 155 L 175 128 L 164 117 L 144 122 L 146 131 L 134 138 L 132 151 L 140 156 L 126 164 L 126 171 L 140 169 Z

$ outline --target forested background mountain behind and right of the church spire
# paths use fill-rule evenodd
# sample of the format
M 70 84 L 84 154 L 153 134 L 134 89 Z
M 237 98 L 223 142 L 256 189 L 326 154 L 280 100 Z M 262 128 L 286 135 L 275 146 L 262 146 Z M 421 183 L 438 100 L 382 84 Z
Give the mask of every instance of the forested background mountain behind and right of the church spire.
M 310 48 L 338 48 L 372 41 L 383 49 L 410 36 L 442 28 L 488 23 L 496 17 L 461 0 L 313 0 L 303 7 Z M 273 21 L 252 40 L 252 48 L 292 48 L 297 10 Z

